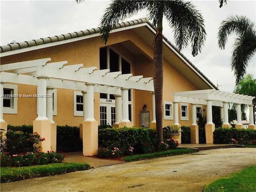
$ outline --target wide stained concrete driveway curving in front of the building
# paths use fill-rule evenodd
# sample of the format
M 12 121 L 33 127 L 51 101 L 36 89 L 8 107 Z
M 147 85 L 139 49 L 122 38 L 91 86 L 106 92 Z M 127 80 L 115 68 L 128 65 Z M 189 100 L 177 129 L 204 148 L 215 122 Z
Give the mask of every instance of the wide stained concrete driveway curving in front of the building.
M 1 192 L 201 192 L 206 184 L 252 165 L 255 148 L 212 149 L 4 183 Z

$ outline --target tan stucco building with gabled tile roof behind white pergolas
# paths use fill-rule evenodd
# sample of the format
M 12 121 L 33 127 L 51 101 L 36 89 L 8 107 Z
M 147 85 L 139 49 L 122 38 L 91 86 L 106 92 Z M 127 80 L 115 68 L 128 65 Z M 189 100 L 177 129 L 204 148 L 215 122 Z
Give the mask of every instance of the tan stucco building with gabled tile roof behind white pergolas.
M 146 18 L 142 18 L 116 24 L 112 28 L 106 45 L 100 38 L 99 28 L 8 44 L 0 47 L 1 66 L 50 58 L 49 63 L 66 61 L 66 66 L 74 64 L 82 64 L 84 68 L 96 66 L 97 70 L 109 69 L 106 73 L 120 71 L 122 74 L 143 76 L 144 80 L 149 82 L 150 77 L 153 77 L 154 45 L 152 41 L 155 33 L 156 30 L 150 22 Z M 192 117 L 193 102 L 177 102 L 176 109 L 174 109 L 174 92 L 218 89 L 166 38 L 163 40 L 163 53 L 163 126 L 177 124 L 177 121 L 180 125 L 190 126 L 194 124 L 192 118 L 195 119 L 195 115 L 198 118 L 203 111 L 203 114 L 206 115 L 206 102 L 199 102 L 196 105 L 194 103 L 194 116 Z M 20 67 L 22 68 L 22 66 Z M 15 73 L 12 70 L 8 72 Z M 18 73 L 16 72 L 16 74 Z M 26 71 L 22 74 L 36 78 L 34 71 Z M 113 80 L 118 81 L 117 78 Z M 38 117 L 38 98 L 33 96 L 38 94 L 38 86 L 10 83 L 2 78 L 1 82 L 3 94 L 18 95 L 14 98 L 3 98 L 3 117 L 1 119 L 14 126 L 33 124 Z M 134 82 L 140 82 L 140 78 Z M 104 81 L 102 84 L 104 85 Z M 122 89 L 122 87 L 120 88 Z M 79 126 L 84 120 L 84 93 L 79 89 L 76 90 L 74 86 L 72 88 L 53 87 L 51 90 L 52 120 L 57 125 Z M 152 96 L 152 91 L 149 90 L 129 89 L 128 114 L 126 115 L 131 122 L 130 126 L 149 127 L 150 123 L 151 126 L 154 126 L 154 95 Z M 116 96 L 114 94 L 94 91 L 93 106 L 93 118 L 98 124 L 113 125 L 115 122 L 122 122 L 122 115 L 116 114 Z M 176 122 L 174 121 L 175 110 L 178 112 Z M 88 114 L 90 112 L 89 110 Z M 120 120 L 116 119 L 117 116 Z

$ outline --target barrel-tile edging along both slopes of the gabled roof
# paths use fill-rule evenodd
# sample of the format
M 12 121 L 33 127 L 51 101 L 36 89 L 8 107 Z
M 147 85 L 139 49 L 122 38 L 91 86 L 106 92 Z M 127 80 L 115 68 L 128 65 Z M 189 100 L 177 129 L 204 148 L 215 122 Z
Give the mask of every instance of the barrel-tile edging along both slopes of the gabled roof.
M 150 23 L 148 21 L 148 18 L 139 18 L 139 19 L 132 20 L 132 21 L 121 22 L 121 23 L 118 23 L 118 24 L 112 26 L 112 29 L 133 26 L 133 25 L 142 24 L 142 23 L 148 23 L 152 28 L 154 28 L 154 30 L 156 30 L 156 28 L 152 25 L 152 23 Z M 96 34 L 99 32 L 100 32 L 100 28 L 98 27 L 98 28 L 92 28 L 92 29 L 82 30 L 82 31 L 78 31 L 78 32 L 68 33 L 68 34 L 56 35 L 56 36 L 52 36 L 52 37 L 40 38 L 40 39 L 24 41 L 24 42 L 17 42 L 17 43 L 13 43 L 13 44 L 0 46 L 0 53 L 12 51 L 12 50 L 18 50 L 18 49 L 22 49 L 22 48 L 28 48 L 28 47 L 42 45 L 42 44 L 47 44 L 47 43 L 52 43 L 52 42 L 68 40 L 68 39 L 86 36 L 86 35 L 90 35 L 90 34 Z M 186 56 L 184 56 L 184 54 L 182 54 L 174 46 L 174 44 L 172 44 L 165 36 L 163 36 L 163 39 L 166 40 L 166 42 L 168 42 L 168 44 L 170 44 L 170 46 L 172 46 L 172 48 L 174 48 L 180 54 L 180 56 L 182 56 L 216 90 L 218 90 L 218 88 L 196 66 L 194 66 L 194 64 L 192 64 L 192 62 L 190 62 L 190 60 L 188 60 L 188 58 L 186 58 Z

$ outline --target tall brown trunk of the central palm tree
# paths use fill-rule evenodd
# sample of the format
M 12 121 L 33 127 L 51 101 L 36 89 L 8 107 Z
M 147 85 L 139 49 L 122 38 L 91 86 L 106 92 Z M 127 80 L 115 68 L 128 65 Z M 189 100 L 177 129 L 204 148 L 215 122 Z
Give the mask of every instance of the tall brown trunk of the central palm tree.
M 162 19 L 158 22 L 158 32 L 154 41 L 154 91 L 156 102 L 156 131 L 158 146 L 163 141 L 162 117 L 163 117 L 163 44 L 162 44 Z

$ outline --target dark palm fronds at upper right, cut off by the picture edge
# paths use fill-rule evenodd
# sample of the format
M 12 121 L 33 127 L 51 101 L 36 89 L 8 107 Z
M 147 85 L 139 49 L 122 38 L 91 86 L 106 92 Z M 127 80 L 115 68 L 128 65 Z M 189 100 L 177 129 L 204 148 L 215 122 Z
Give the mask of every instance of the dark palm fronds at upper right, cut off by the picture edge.
M 235 33 L 236 38 L 231 56 L 231 69 L 236 76 L 236 84 L 246 74 L 249 60 L 256 53 L 256 29 L 255 24 L 245 16 L 229 16 L 223 20 L 218 32 L 218 45 L 225 48 L 227 37 Z

